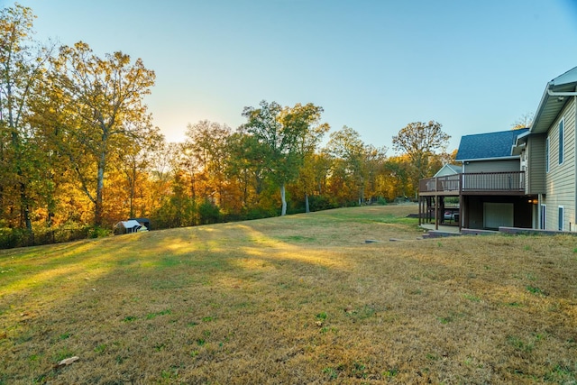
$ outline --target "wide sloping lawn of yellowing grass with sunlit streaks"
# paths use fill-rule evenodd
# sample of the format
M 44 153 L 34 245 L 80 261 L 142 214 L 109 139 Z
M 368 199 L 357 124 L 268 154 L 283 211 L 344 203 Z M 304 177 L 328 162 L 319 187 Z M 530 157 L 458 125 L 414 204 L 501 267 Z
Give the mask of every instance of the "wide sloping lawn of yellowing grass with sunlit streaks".
M 417 240 L 416 212 L 0 251 L 0 384 L 574 384 L 577 238 Z

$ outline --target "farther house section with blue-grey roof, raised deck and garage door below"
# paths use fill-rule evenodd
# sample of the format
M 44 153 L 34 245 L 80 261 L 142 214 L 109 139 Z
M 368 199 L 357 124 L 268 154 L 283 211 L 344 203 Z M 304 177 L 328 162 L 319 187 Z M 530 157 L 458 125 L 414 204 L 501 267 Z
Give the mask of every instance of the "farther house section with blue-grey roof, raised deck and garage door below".
M 459 197 L 454 215 L 460 227 L 496 230 L 499 226 L 532 227 L 532 198 L 525 192 L 521 156 L 514 153 L 517 136 L 528 129 L 465 135 L 456 159 L 459 173 L 421 181 L 422 210 L 438 209 L 435 225 L 445 219 L 445 198 Z M 435 188 L 431 188 L 431 184 Z M 428 215 L 428 214 L 427 214 Z

